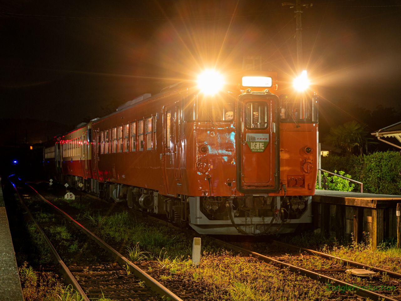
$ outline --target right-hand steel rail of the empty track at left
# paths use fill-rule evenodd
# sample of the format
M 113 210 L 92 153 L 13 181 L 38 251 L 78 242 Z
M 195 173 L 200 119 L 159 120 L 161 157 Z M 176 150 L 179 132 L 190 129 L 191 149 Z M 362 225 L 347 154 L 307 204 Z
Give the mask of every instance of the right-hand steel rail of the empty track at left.
M 26 184 L 26 183 L 25 183 Z M 130 271 L 132 272 L 133 275 L 141 279 L 142 281 L 145 281 L 146 285 L 150 287 L 153 291 L 158 293 L 160 296 L 166 296 L 169 297 L 170 299 L 176 300 L 176 301 L 183 301 L 180 297 L 178 297 L 176 294 L 174 294 L 172 291 L 170 291 L 168 288 L 166 288 L 164 285 L 162 285 L 160 282 L 158 282 L 156 279 L 154 279 L 152 276 L 150 276 L 148 273 L 146 273 L 144 270 L 133 264 L 130 260 L 128 260 L 126 257 L 122 256 L 119 252 L 117 252 L 114 248 L 109 246 L 106 242 L 101 240 L 99 237 L 97 237 L 95 234 L 93 234 L 91 231 L 89 231 L 87 228 L 79 224 L 76 220 L 71 218 L 67 213 L 65 213 L 63 210 L 58 208 L 57 206 L 53 205 L 51 202 L 49 202 L 47 199 L 45 199 L 38 191 L 36 191 L 32 186 L 28 185 L 30 188 L 32 188 L 38 196 L 43 199 L 43 201 L 47 202 L 49 205 L 53 206 L 55 209 L 57 209 L 67 220 L 69 220 L 71 223 L 73 223 L 79 230 L 84 232 L 87 236 L 95 240 L 99 246 L 101 246 L 103 249 L 107 250 L 111 255 L 121 264 L 122 266 L 126 265 L 127 263 L 130 266 Z

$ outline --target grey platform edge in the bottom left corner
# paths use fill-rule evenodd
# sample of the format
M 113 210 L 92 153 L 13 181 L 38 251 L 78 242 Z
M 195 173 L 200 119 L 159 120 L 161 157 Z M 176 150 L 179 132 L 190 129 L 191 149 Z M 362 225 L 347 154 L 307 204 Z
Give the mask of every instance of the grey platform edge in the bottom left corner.
M 1 181 L 1 178 L 0 178 Z M 24 301 L 17 262 L 12 246 L 10 228 L 3 191 L 0 185 L 0 299 L 4 301 Z

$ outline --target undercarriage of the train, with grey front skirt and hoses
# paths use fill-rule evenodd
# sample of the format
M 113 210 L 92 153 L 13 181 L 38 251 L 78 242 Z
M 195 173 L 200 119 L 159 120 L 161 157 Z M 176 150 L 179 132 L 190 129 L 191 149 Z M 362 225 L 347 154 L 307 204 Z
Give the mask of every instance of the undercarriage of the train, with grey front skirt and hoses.
M 172 197 L 152 189 L 71 175 L 59 180 L 105 200 L 127 202 L 130 208 L 165 215 L 180 226 L 188 224 L 199 234 L 282 234 L 294 232 L 299 224 L 312 223 L 311 196 Z M 81 188 L 79 183 L 83 184 Z

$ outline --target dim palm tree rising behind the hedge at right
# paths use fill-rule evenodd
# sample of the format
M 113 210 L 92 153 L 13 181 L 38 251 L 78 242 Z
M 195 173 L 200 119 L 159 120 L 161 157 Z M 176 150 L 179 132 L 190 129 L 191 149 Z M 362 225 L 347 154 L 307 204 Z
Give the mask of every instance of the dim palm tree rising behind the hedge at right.
M 362 150 L 368 150 L 368 145 L 377 144 L 373 138 L 369 138 L 366 130 L 366 124 L 360 124 L 355 120 L 346 122 L 336 127 L 330 128 L 330 132 L 323 137 L 323 142 L 335 147 L 346 149 L 347 154 L 351 154 L 355 146 L 358 147 L 360 155 Z

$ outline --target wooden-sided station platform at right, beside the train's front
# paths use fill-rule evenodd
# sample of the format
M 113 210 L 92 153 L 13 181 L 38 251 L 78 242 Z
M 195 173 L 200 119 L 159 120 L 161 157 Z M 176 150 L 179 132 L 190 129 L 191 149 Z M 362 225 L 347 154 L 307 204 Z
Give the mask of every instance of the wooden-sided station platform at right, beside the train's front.
M 314 228 L 322 237 L 353 239 L 375 249 L 385 238 L 397 240 L 396 206 L 401 195 L 316 189 Z

